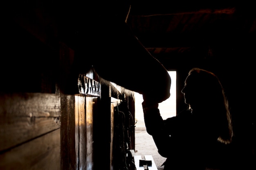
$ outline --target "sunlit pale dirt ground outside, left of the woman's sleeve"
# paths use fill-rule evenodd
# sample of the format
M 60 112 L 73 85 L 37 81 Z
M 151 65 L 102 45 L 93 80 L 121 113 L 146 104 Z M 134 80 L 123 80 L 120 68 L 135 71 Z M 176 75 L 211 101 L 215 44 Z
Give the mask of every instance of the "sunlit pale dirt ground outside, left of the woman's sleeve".
M 152 155 L 158 170 L 163 170 L 161 167 L 165 159 L 157 152 L 157 147 L 152 136 L 146 132 L 144 121 L 137 121 L 135 124 L 135 155 Z

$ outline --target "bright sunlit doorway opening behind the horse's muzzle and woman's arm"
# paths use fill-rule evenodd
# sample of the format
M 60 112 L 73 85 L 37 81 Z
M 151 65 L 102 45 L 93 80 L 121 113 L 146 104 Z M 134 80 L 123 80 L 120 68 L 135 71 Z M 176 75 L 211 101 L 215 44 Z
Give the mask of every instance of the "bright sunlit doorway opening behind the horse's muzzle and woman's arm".
M 176 115 L 176 71 L 168 71 L 171 77 L 171 96 L 162 103 L 159 103 L 160 114 L 163 119 Z M 135 93 L 135 155 L 152 155 L 158 170 L 162 170 L 162 163 L 165 161 L 157 152 L 153 138 L 146 132 L 144 116 L 141 103 L 143 97 Z

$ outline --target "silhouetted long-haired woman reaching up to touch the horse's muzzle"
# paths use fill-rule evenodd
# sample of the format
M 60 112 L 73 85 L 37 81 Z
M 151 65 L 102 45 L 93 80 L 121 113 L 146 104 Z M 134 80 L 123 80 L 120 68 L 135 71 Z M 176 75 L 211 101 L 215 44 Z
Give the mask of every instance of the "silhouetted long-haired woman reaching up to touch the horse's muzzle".
M 227 168 L 220 151 L 231 143 L 231 115 L 220 81 L 213 73 L 193 68 L 184 88 L 188 108 L 163 120 L 150 95 L 143 95 L 144 121 L 158 152 L 166 157 L 164 170 Z

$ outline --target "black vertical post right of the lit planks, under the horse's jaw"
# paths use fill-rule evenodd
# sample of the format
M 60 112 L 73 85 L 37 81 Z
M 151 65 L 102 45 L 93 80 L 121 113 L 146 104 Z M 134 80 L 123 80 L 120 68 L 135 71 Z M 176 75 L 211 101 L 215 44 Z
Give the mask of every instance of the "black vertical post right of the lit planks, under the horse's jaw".
M 95 98 L 93 106 L 93 169 L 110 169 L 112 152 L 110 88 L 101 84 L 101 97 Z

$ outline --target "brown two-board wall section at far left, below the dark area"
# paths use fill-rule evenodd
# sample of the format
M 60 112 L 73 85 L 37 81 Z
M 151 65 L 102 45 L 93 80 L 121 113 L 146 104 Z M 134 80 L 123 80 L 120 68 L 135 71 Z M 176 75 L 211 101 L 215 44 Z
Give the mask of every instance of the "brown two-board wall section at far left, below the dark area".
M 0 169 L 61 168 L 59 95 L 2 94 L 0 117 Z

